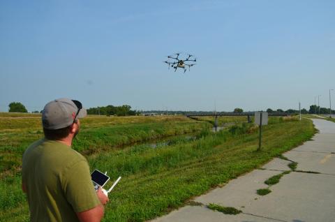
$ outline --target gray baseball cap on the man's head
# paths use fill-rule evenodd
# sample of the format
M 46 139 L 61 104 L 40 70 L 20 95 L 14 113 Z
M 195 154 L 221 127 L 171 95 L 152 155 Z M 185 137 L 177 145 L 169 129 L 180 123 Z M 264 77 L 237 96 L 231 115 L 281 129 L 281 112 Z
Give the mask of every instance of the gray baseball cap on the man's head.
M 43 128 L 59 129 L 73 124 L 77 118 L 87 116 L 82 103 L 69 98 L 58 98 L 45 105 L 42 112 Z

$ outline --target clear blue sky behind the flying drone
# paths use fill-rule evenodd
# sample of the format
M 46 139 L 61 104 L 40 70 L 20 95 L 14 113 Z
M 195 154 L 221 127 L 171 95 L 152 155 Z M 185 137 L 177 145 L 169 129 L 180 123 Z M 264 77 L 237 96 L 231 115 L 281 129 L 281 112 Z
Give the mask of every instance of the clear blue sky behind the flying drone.
M 335 89 L 335 1 L 0 1 L 0 111 L 283 110 Z M 163 64 L 195 54 L 183 73 Z M 335 94 L 332 91 L 335 107 Z M 317 101 L 318 103 L 318 101 Z

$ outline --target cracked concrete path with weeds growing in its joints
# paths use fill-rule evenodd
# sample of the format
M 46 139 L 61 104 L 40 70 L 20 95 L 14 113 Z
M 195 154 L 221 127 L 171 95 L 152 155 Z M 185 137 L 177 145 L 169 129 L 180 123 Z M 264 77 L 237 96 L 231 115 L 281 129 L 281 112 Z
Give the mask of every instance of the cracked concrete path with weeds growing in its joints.
M 281 177 L 270 187 L 271 193 L 258 195 L 267 188 L 265 180 L 288 168 L 290 161 L 274 158 L 247 175 L 232 179 L 223 188 L 195 198 L 202 206 L 186 206 L 154 221 L 335 221 L 335 123 L 313 119 L 320 133 L 283 156 L 298 163 L 297 171 Z M 318 172 L 312 173 L 312 172 Z M 205 205 L 215 203 L 235 207 L 243 213 L 226 215 Z

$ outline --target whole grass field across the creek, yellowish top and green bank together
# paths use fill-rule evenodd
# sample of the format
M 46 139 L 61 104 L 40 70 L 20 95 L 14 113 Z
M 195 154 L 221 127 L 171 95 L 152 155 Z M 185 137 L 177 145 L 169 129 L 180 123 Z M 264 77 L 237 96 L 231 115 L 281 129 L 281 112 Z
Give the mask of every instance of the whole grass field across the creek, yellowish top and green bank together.
M 23 151 L 40 138 L 39 118 L 0 117 L 0 179 L 20 171 Z M 87 117 L 73 142 L 73 148 L 85 155 L 117 149 L 145 140 L 193 133 L 210 128 L 207 122 L 186 117 Z

